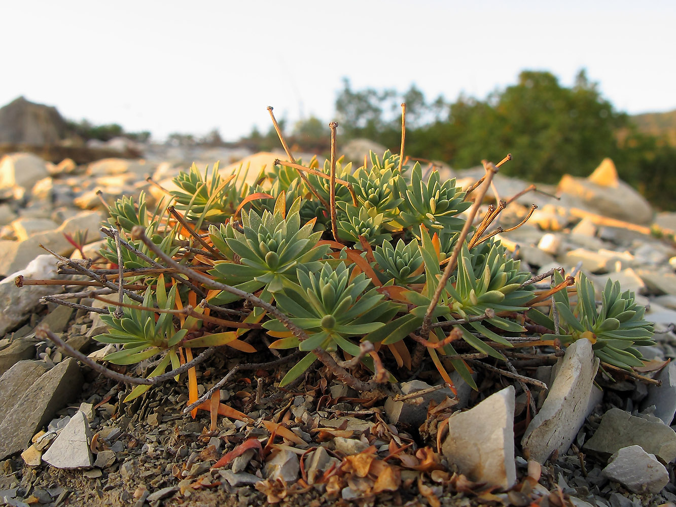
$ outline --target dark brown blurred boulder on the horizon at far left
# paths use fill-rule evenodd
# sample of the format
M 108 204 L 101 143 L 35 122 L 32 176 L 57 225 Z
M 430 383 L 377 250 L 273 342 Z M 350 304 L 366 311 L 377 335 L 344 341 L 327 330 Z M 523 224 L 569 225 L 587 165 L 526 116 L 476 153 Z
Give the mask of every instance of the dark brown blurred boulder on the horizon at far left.
M 55 107 L 19 97 L 0 109 L 0 143 L 51 145 L 68 133 L 66 120 Z

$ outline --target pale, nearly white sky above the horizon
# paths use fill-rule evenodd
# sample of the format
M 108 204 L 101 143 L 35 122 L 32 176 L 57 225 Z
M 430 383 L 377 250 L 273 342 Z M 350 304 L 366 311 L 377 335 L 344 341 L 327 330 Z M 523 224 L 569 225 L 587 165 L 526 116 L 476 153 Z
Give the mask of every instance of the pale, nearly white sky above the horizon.
M 556 5 L 555 5 L 556 4 Z M 480 99 L 580 68 L 621 111 L 676 109 L 676 2 L 0 1 L 0 105 L 19 95 L 66 118 L 234 141 L 334 116 L 352 89 Z M 327 132 L 328 132 L 327 127 Z M 327 134 L 328 135 L 328 134 Z

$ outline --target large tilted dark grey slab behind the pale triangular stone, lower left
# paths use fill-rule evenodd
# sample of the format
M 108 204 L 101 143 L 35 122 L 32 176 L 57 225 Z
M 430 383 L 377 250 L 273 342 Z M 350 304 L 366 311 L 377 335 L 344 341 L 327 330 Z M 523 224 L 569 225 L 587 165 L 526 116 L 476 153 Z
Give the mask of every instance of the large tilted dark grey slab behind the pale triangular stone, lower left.
M 26 448 L 31 437 L 49 423 L 57 410 L 73 400 L 82 387 L 80 366 L 73 358 L 57 364 L 16 399 L 0 423 L 0 460 Z

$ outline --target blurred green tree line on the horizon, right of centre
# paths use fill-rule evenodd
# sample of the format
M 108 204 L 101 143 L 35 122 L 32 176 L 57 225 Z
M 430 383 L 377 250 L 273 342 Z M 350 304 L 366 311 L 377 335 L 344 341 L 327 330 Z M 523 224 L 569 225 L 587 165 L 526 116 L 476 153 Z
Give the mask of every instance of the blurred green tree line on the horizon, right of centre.
M 486 99 L 460 95 L 428 100 L 412 85 L 394 89 L 352 89 L 347 78 L 335 102 L 339 139 L 366 138 L 393 152 L 401 142 L 401 107 L 406 103 L 406 155 L 470 168 L 482 159 L 501 160 L 504 174 L 537 183 L 557 183 L 564 174 L 587 176 L 606 157 L 620 177 L 656 208 L 676 210 L 676 146 L 666 135 L 644 132 L 614 108 L 598 84 L 579 71 L 572 87 L 550 72 L 525 70 L 518 82 Z M 290 143 L 328 152 L 328 122 L 314 116 L 288 128 Z M 279 146 L 274 128 L 254 128 L 241 140 L 257 150 Z

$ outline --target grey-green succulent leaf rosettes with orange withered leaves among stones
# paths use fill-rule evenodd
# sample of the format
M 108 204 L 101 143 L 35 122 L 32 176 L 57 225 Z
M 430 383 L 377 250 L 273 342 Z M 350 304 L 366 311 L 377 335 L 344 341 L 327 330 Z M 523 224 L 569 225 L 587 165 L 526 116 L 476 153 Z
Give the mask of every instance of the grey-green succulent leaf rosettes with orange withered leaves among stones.
M 354 375 L 372 371 L 394 381 L 397 370 L 412 368 L 412 347 L 422 347 L 445 381 L 452 383 L 446 368 L 453 368 L 476 389 L 459 353 L 469 349 L 502 360 L 502 351 L 527 333 L 524 324 L 536 322 L 550 331 L 541 337 L 544 345 L 588 338 L 602 361 L 627 369 L 642 365 L 635 346 L 652 343 L 652 328 L 633 294 L 609 283 L 597 304 L 592 283 L 580 276 L 577 304 L 566 290 L 558 290 L 549 314 L 531 308 L 542 301 L 525 283 L 531 275 L 498 241 L 460 242 L 462 212 L 471 202 L 455 180 L 441 182 L 435 171 L 424 177 L 420 164 L 401 162 L 386 151 L 382 158 L 371 153 L 370 166 L 354 172 L 349 164 L 336 164 L 337 237 L 331 234 L 333 213 L 322 208 L 322 202 L 331 202 L 331 167 L 319 168 L 316 160 L 306 180 L 296 168 L 278 165 L 262 171 L 252 187 L 238 183 L 240 172 L 221 175 L 215 167 L 202 174 L 193 166 L 174 180 L 180 190 L 172 197 L 183 216 L 178 222 L 162 206 L 149 213 L 143 195 L 138 203 L 127 198 L 114 203 L 109 223 L 130 245 L 161 262 L 146 243 L 130 239 L 132 229 L 143 226 L 166 256 L 207 272 L 214 285 L 185 285 L 174 276 L 167 293 L 164 275 L 134 276 L 149 262 L 133 249 L 125 249 L 120 260 L 110 239 L 102 251 L 105 259 L 122 262 L 147 289 L 141 308 L 125 297 L 117 309 L 122 318 L 113 315 L 114 307 L 103 316 L 110 332 L 95 338 L 121 347 L 107 360 L 155 360 L 153 377 L 169 364 L 175 368 L 190 360 L 194 347 L 229 345 L 256 352 L 266 344 L 260 332 L 249 330 L 262 328 L 274 338 L 270 348 L 306 353 L 281 385 L 297 379 L 322 354 L 361 365 Z M 488 216 L 483 225 L 495 215 Z M 457 262 L 445 278 L 452 254 Z M 564 289 L 562 276 L 555 276 Z M 202 304 L 196 289 L 206 295 Z M 241 299 L 254 295 L 285 319 L 264 305 L 247 310 Z M 212 311 L 219 310 L 243 320 L 214 318 Z M 191 401 L 197 399 L 194 387 Z M 137 387 L 129 398 L 146 389 Z

